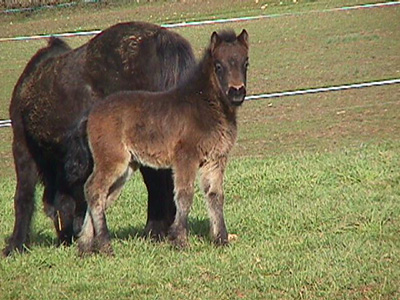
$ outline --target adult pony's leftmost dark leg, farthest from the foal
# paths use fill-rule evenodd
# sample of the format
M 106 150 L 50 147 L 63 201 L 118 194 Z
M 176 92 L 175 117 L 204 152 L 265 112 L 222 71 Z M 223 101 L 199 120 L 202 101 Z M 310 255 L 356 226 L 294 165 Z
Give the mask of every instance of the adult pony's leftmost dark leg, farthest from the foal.
M 32 215 L 34 212 L 35 187 L 38 182 L 36 164 L 29 152 L 21 122 L 14 122 L 12 152 L 17 176 L 14 195 L 15 222 L 12 236 L 8 240 L 3 255 L 13 251 L 22 252 L 28 242 Z

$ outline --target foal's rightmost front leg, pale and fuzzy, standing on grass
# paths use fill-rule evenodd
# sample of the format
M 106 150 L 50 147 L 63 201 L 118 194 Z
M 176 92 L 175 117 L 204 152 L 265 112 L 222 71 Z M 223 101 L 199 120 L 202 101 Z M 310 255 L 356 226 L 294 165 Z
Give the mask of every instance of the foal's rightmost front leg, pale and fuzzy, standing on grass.
M 200 182 L 207 199 L 210 216 L 210 234 L 217 245 L 228 244 L 224 221 L 223 179 L 226 158 L 207 163 L 200 169 Z

